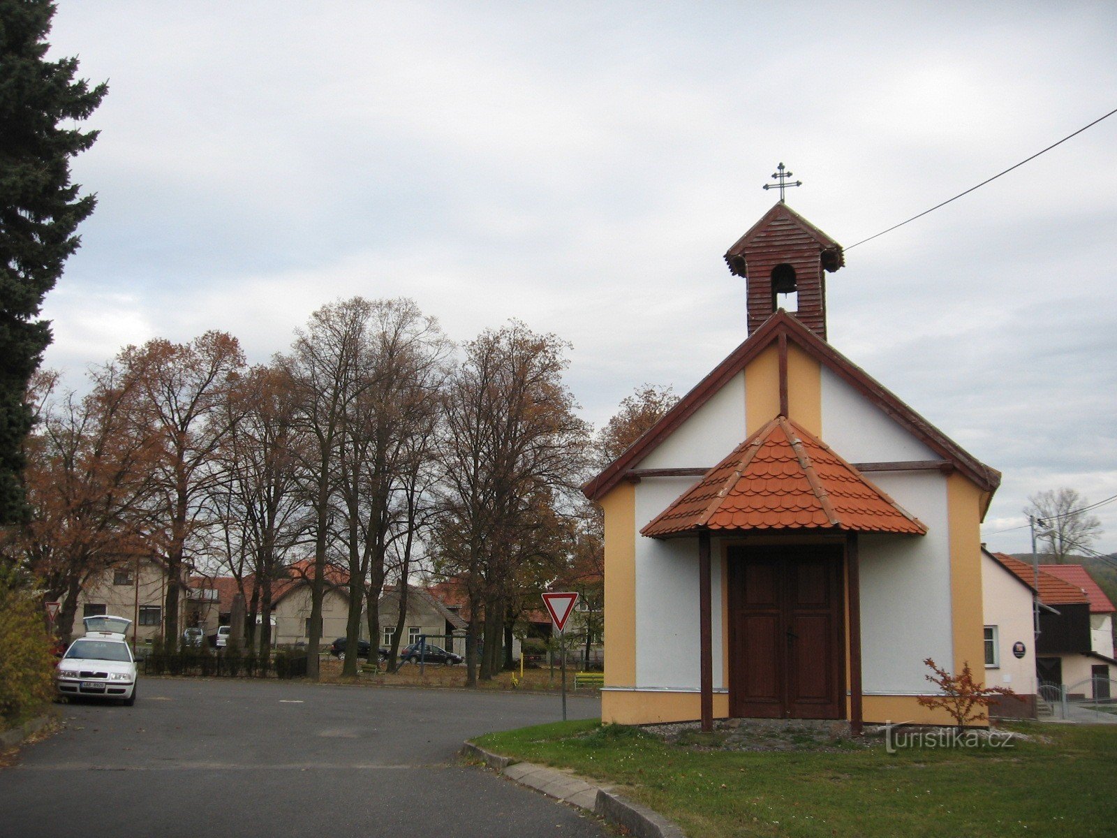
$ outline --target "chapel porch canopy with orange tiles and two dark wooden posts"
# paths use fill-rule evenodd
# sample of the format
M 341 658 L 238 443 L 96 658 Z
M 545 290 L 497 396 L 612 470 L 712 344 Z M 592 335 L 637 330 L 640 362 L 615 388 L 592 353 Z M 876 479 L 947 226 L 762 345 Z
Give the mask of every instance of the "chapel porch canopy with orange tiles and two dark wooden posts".
M 698 537 L 701 724 L 714 724 L 710 535 L 844 533 L 850 644 L 850 724 L 861 729 L 861 626 L 857 533 L 925 535 L 927 527 L 825 442 L 777 416 L 709 469 L 640 532 Z

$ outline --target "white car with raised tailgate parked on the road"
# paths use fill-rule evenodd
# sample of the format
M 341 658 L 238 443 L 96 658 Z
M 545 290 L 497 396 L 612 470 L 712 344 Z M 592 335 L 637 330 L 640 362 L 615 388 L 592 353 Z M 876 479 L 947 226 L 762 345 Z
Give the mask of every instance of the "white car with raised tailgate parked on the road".
M 125 635 L 132 620 L 86 617 L 85 637 L 70 644 L 58 663 L 58 695 L 136 701 L 136 661 Z

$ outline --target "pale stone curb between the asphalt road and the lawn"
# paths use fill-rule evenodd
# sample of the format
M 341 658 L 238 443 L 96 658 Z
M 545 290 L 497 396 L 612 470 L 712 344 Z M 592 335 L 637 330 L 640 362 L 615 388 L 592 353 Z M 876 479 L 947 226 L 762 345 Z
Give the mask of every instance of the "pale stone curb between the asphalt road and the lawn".
M 472 742 L 462 744 L 461 755 L 485 763 L 518 785 L 592 811 L 614 826 L 624 827 L 638 838 L 686 838 L 686 834 L 677 825 L 659 812 L 626 800 L 620 794 L 593 785 L 574 774 L 532 762 L 516 762 L 508 756 L 486 751 Z

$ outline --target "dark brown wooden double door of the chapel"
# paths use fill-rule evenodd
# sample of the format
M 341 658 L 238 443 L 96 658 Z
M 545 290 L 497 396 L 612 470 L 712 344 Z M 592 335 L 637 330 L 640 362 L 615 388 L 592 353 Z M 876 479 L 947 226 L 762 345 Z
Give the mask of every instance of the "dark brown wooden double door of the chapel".
M 729 547 L 729 715 L 844 718 L 840 545 Z

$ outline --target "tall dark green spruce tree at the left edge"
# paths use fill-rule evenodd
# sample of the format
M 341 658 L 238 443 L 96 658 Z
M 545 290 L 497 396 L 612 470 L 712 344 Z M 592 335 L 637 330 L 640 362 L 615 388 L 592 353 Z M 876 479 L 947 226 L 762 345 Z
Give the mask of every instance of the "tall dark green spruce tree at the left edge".
M 93 113 L 107 87 L 75 79 L 76 58 L 45 60 L 54 15 L 48 0 L 0 0 L 0 524 L 25 514 L 25 392 L 50 343 L 39 308 L 96 202 L 78 197 L 69 159 L 97 139 L 76 121 Z

